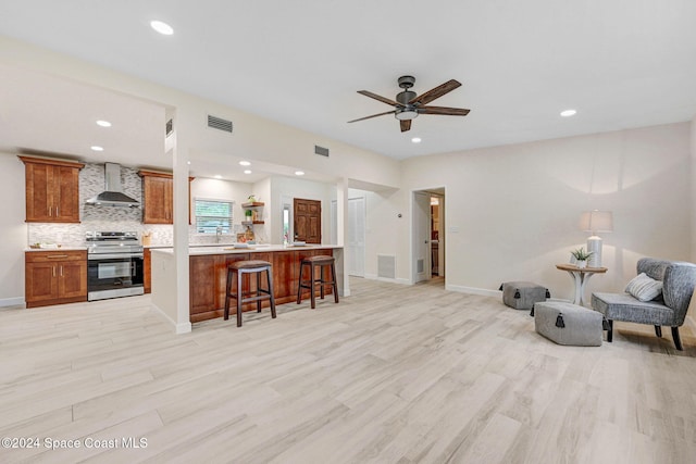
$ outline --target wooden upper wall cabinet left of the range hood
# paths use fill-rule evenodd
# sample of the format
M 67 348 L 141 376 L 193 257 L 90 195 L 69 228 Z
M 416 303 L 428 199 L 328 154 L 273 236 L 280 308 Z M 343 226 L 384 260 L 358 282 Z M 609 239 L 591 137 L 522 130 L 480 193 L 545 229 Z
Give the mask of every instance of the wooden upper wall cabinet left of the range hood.
M 27 223 L 79 223 L 79 170 L 70 161 L 18 156 L 26 175 Z

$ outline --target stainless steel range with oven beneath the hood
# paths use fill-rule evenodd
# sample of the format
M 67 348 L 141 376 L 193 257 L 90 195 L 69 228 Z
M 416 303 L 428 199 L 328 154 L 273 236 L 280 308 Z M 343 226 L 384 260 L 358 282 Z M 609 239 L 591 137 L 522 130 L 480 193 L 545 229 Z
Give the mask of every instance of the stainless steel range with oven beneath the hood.
M 142 294 L 142 244 L 134 231 L 88 231 L 87 300 Z

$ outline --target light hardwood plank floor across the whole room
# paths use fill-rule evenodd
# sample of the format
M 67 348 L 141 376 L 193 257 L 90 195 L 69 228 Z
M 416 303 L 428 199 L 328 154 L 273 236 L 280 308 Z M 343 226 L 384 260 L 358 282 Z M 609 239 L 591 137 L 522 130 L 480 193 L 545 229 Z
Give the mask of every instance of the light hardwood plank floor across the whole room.
M 622 323 L 613 343 L 560 347 L 498 299 L 351 288 L 182 336 L 147 296 L 0 310 L 0 436 L 40 440 L 0 462 L 696 462 L 686 327 L 683 352 Z

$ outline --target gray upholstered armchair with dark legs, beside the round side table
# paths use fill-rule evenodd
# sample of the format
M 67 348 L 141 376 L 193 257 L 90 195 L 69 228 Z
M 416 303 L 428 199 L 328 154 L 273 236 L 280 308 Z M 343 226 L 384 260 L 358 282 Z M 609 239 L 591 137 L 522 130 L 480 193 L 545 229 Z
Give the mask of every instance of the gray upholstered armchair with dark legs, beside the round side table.
M 630 293 L 593 293 L 592 308 L 605 315 L 608 324 L 607 341 L 611 341 L 613 322 L 625 321 L 655 326 L 662 336 L 662 326 L 672 328 L 672 338 L 682 350 L 679 327 L 684 324 L 686 311 L 696 285 L 696 265 L 680 261 L 643 258 L 638 260 L 638 274 L 645 273 L 662 281 L 662 296 L 651 301 L 639 301 Z

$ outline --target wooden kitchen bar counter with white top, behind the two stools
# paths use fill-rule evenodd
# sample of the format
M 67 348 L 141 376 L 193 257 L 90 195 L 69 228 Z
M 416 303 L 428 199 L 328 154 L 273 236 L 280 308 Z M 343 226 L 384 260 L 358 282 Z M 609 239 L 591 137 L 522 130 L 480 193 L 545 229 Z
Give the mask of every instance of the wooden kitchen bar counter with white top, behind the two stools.
M 343 248 L 332 244 L 307 244 L 285 247 L 282 244 L 249 246 L 235 249 L 229 246 L 189 248 L 189 317 L 191 323 L 222 317 L 225 305 L 227 266 L 235 261 L 263 260 L 273 264 L 273 287 L 276 304 L 288 303 L 297 298 L 300 262 L 304 258 L 334 255 L 337 272 L 341 275 Z M 253 248 L 251 248 L 253 247 Z M 171 305 L 175 279 L 169 268 L 174 261 L 173 249 L 152 249 L 152 298 L 153 303 L 164 311 Z M 256 280 L 250 284 L 256 288 Z M 249 290 L 247 288 L 246 290 Z M 338 290 L 343 292 L 340 279 Z M 309 298 L 309 290 L 303 290 Z M 330 290 L 327 289 L 327 293 Z M 304 298 L 304 297 L 303 297 Z M 268 305 L 268 301 L 263 302 Z M 256 303 L 245 305 L 245 311 L 256 310 Z

